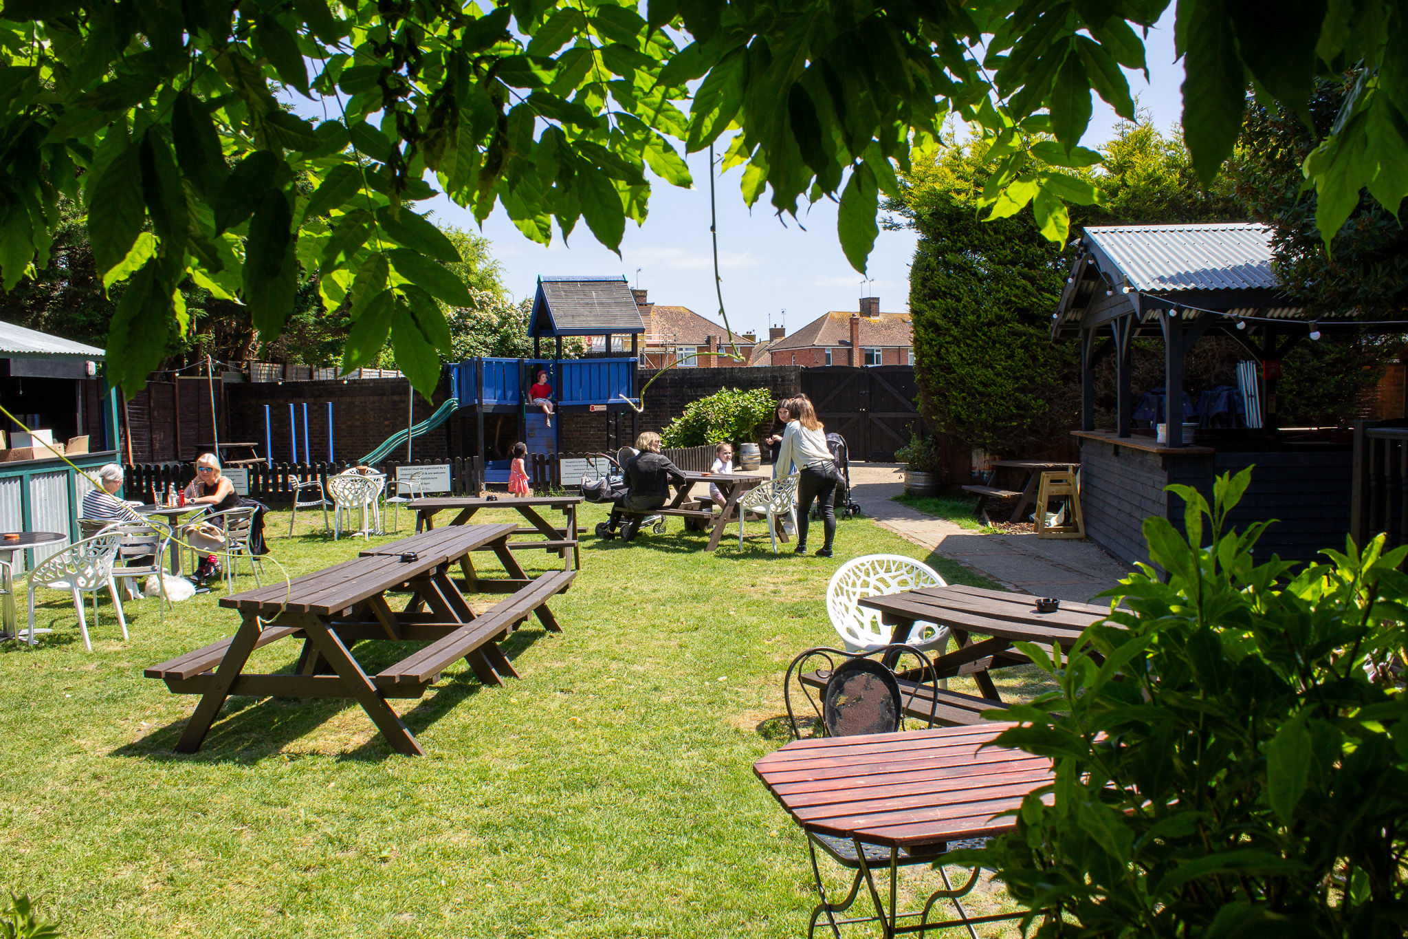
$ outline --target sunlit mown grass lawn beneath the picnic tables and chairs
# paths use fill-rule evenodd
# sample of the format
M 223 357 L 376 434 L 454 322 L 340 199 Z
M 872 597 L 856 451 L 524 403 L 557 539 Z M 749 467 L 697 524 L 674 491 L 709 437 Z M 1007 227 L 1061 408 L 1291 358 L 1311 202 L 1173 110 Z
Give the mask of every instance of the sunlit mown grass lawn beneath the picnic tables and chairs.
M 586 532 L 601 518 L 583 507 Z M 287 539 L 287 524 L 276 512 L 269 531 L 290 576 L 363 543 Z M 677 519 L 634 545 L 589 535 L 553 604 L 565 634 L 529 621 L 505 642 L 521 680 L 486 688 L 460 663 L 393 702 L 424 757 L 391 753 L 355 702 L 251 698 L 225 705 L 200 753 L 176 755 L 196 698 L 142 669 L 230 635 L 234 612 L 215 594 L 165 619 L 156 600 L 132 603 L 122 642 L 104 601 L 89 653 L 72 604 L 49 594 L 38 618 L 55 632 L 0 646 L 0 887 L 68 936 L 804 935 L 805 843 L 750 767 L 787 739 L 788 660 L 834 643 L 831 573 L 924 550 L 867 519 L 841 522 L 829 560 L 774 556 L 766 538 L 714 555 L 703 542 Z M 372 664 L 406 652 L 358 648 Z M 256 662 L 287 669 L 296 653 L 275 643 Z M 1029 691 L 1029 674 L 1007 681 Z

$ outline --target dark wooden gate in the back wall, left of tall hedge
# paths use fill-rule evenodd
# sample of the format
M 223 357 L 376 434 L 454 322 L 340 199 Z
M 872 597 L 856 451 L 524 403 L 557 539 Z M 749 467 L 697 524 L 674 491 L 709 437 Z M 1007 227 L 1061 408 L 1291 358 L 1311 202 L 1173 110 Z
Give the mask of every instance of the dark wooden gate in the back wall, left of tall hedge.
M 801 390 L 826 432 L 846 438 L 850 459 L 894 460 L 895 449 L 910 441 L 910 427 L 919 421 L 914 366 L 803 369 Z

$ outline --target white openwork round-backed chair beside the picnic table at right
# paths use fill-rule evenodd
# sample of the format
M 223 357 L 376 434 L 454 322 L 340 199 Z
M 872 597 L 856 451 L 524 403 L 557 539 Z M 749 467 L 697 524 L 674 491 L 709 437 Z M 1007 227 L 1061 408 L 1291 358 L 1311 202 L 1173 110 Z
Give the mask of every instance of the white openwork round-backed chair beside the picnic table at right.
M 890 645 L 890 628 L 880 622 L 880 611 L 862 607 L 865 597 L 946 587 L 943 577 L 928 565 L 903 555 L 866 555 L 848 560 L 826 584 L 826 615 L 846 643 L 846 652 L 873 652 Z M 915 622 L 905 645 L 915 649 L 942 649 L 949 631 L 932 622 Z

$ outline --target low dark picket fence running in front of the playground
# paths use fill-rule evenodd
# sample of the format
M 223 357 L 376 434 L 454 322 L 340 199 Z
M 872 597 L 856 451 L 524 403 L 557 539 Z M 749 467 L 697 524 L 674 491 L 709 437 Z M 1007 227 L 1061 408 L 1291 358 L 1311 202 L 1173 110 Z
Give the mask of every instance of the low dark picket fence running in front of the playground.
M 660 450 L 683 470 L 705 472 L 714 460 L 712 446 L 689 446 Z M 551 489 L 574 489 L 579 479 L 562 479 L 562 460 L 579 460 L 591 456 L 590 453 L 532 453 L 528 463 L 528 479 L 532 487 L 539 491 Z M 452 496 L 477 496 L 484 486 L 484 462 L 477 456 L 456 458 L 449 460 L 387 460 L 376 463 L 375 469 L 396 477 L 397 466 L 445 466 L 449 465 L 449 480 Z M 260 503 L 277 504 L 293 501 L 293 487 L 298 483 L 318 480 L 327 487 L 328 476 L 345 472 L 351 463 L 268 463 L 251 465 L 249 469 L 249 498 Z M 138 463 L 124 467 L 127 480 L 124 494 L 127 498 L 149 500 L 153 491 L 158 497 L 166 493 L 168 486 L 183 489 L 196 477 L 193 463 Z

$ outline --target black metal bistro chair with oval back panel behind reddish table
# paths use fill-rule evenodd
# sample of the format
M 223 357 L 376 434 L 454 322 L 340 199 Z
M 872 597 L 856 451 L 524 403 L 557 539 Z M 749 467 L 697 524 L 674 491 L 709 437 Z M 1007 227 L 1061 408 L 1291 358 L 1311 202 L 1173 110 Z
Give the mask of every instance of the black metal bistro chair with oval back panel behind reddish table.
M 815 721 L 817 733 L 812 736 L 894 733 L 903 729 L 939 726 L 939 680 L 929 657 L 912 646 L 887 645 L 870 652 L 818 648 L 807 649 L 793 659 L 783 684 L 783 701 L 787 705 L 787 724 L 793 738 L 801 739 L 801 726 L 793 702 L 794 687 L 800 691 L 801 700 L 805 701 Z M 911 726 L 905 726 L 907 719 Z M 890 905 L 893 908 L 898 869 L 915 864 L 936 867 L 943 877 L 945 890 L 932 893 L 922 912 L 915 911 L 901 914 L 901 916 L 919 916 L 921 926 L 912 926 L 912 929 L 919 929 L 924 935 L 922 924 L 928 921 L 931 907 L 936 901 L 952 900 L 957 908 L 959 922 L 967 928 L 972 939 L 977 939 L 977 933 L 967 921 L 967 912 L 959 902 L 959 897 L 973 890 L 977 883 L 977 869 L 972 871 L 967 883 L 955 888 L 943 866 L 935 862 L 949 850 L 976 847 L 984 840 L 952 842 L 935 845 L 934 850 L 929 852 L 915 852 L 808 831 L 807 850 L 811 853 L 811 873 L 817 884 L 817 895 L 821 898 L 821 902 L 811 911 L 811 921 L 807 924 L 808 939 L 811 939 L 822 915 L 826 916 L 826 922 L 838 939 L 843 925 L 874 922 L 874 916 L 845 916 L 860 895 L 860 886 L 869 884 L 873 891 L 873 873 L 888 870 Z M 817 847 L 821 847 L 846 870 L 855 871 L 850 890 L 841 902 L 831 902 L 826 898 L 826 888 L 821 881 L 821 864 L 817 860 Z

